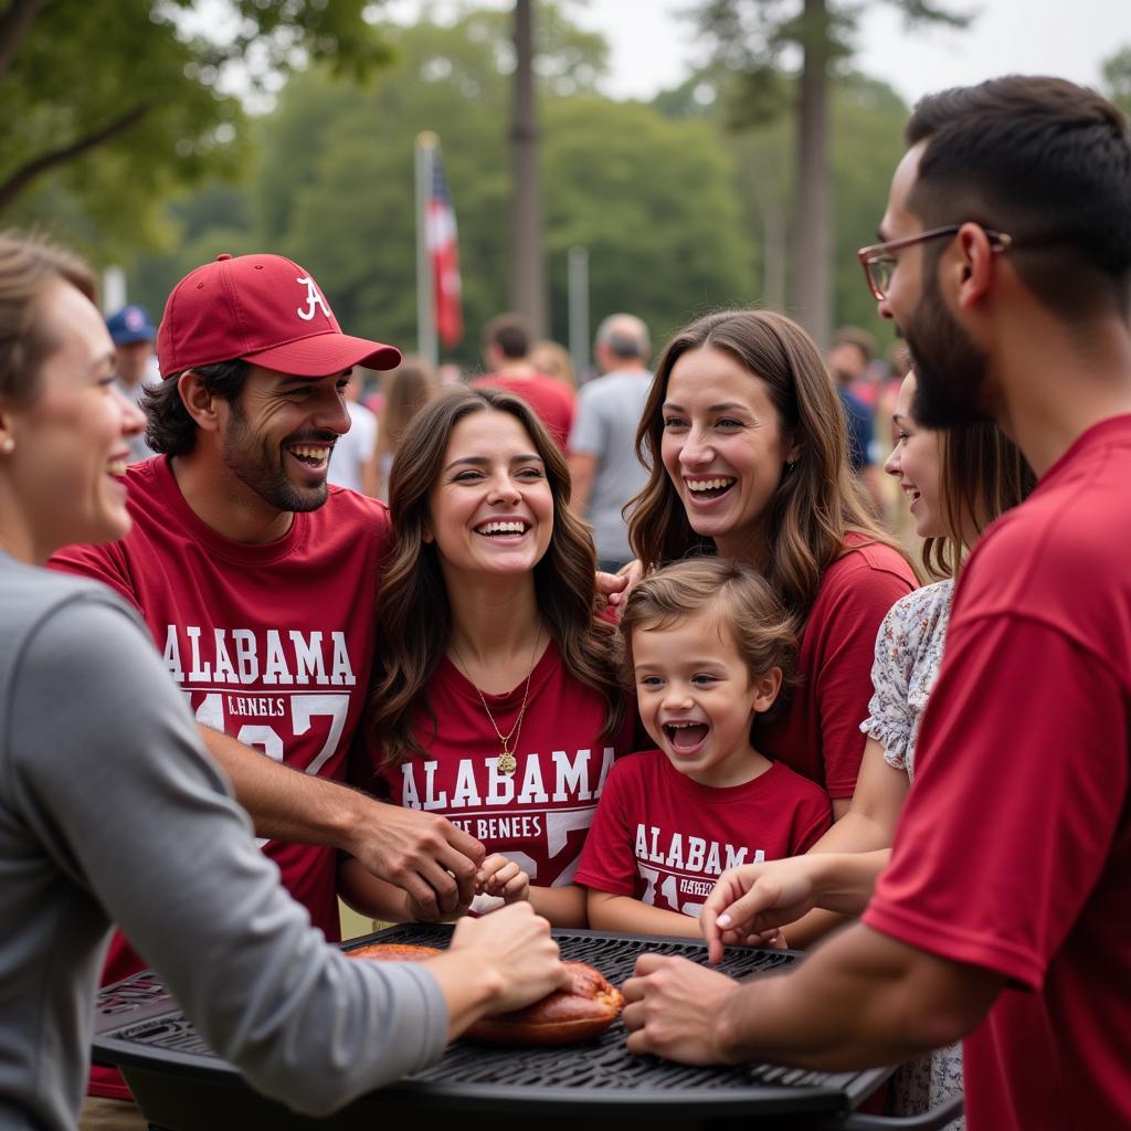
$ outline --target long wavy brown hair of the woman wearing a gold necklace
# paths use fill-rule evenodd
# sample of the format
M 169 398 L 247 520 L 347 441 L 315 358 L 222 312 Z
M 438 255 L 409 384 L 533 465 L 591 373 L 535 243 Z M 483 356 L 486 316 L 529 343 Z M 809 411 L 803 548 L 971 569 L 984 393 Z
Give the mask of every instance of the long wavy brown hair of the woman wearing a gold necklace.
M 456 425 L 472 413 L 513 416 L 542 459 L 553 498 L 550 546 L 534 567 L 538 611 L 561 653 L 566 671 L 605 700 L 602 737 L 624 716 L 612 624 L 595 619 L 596 551 L 588 527 L 569 509 L 566 457 L 526 404 L 501 389 L 448 389 L 413 418 L 400 441 L 389 477 L 389 511 L 395 532 L 381 569 L 377 601 L 377 659 L 370 694 L 370 724 L 382 763 L 396 766 L 425 753 L 413 728 L 451 636 L 451 606 L 437 547 L 424 541 L 429 494 L 443 466 Z M 438 726 L 432 718 L 433 731 Z

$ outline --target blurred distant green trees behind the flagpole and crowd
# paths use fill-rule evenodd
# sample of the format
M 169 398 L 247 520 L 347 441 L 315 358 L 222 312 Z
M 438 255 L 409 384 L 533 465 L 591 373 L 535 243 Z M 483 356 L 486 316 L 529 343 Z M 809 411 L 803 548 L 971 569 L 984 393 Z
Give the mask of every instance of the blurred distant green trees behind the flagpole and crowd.
M 556 9 L 538 28 L 553 335 L 566 339 L 573 245 L 589 252 L 594 325 L 630 310 L 663 342 L 708 309 L 782 305 L 774 270 L 788 278 L 793 262 L 784 236 L 772 244 L 795 208 L 792 119 L 729 131 L 725 72 L 698 75 L 651 105 L 612 102 L 595 90 L 603 41 Z M 349 329 L 414 348 L 413 141 L 431 129 L 459 221 L 467 338 L 455 357 L 480 362 L 478 328 L 508 302 L 508 14 L 388 34 L 397 61 L 369 89 L 318 69 L 292 78 L 276 112 L 256 123 L 244 182 L 175 206 L 176 250 L 138 264 L 136 297 L 156 313 L 181 275 L 217 253 L 277 251 L 316 273 Z M 834 84 L 836 319 L 884 339 L 855 250 L 874 240 L 906 116 L 881 83 L 847 75 Z

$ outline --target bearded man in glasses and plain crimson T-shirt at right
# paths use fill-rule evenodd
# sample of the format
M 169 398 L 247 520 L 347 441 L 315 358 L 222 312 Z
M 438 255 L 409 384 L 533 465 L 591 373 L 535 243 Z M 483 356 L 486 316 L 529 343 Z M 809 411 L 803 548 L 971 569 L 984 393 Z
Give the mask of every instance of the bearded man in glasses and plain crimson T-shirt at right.
M 703 912 L 715 958 L 813 905 L 862 923 L 741 987 L 641 959 L 629 1046 L 849 1069 L 965 1037 L 972 1131 L 1131 1126 L 1131 133 L 1011 77 L 923 100 L 907 144 L 861 259 L 915 417 L 992 417 L 1039 483 L 962 570 L 874 893 L 870 854 L 836 887 L 782 862 Z

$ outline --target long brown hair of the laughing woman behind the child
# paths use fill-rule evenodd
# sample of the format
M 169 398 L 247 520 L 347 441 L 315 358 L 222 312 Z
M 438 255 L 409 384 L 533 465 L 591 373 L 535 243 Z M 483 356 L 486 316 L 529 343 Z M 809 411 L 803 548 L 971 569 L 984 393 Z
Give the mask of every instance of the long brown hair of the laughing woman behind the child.
M 848 535 L 907 555 L 871 517 L 863 489 L 848 466 L 844 409 L 817 345 L 784 314 L 719 311 L 692 322 L 667 344 L 637 431 L 637 455 L 649 468 L 649 477 L 629 503 L 636 508 L 629 542 L 645 569 L 715 552 L 714 542 L 691 528 L 661 457 L 667 382 L 675 363 L 693 349 L 729 354 L 761 378 L 780 429 L 798 444 L 793 468 L 783 469 L 768 503 L 765 577 L 800 631 L 822 573 L 845 552 Z

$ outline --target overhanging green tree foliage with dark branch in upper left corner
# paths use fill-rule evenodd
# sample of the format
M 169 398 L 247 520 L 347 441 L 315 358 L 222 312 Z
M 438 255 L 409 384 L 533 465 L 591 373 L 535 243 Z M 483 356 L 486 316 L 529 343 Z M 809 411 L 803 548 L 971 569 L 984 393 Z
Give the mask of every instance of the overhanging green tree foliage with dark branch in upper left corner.
M 0 214 L 86 243 L 155 236 L 154 206 L 245 159 L 232 90 L 388 58 L 365 0 L 0 0 Z

